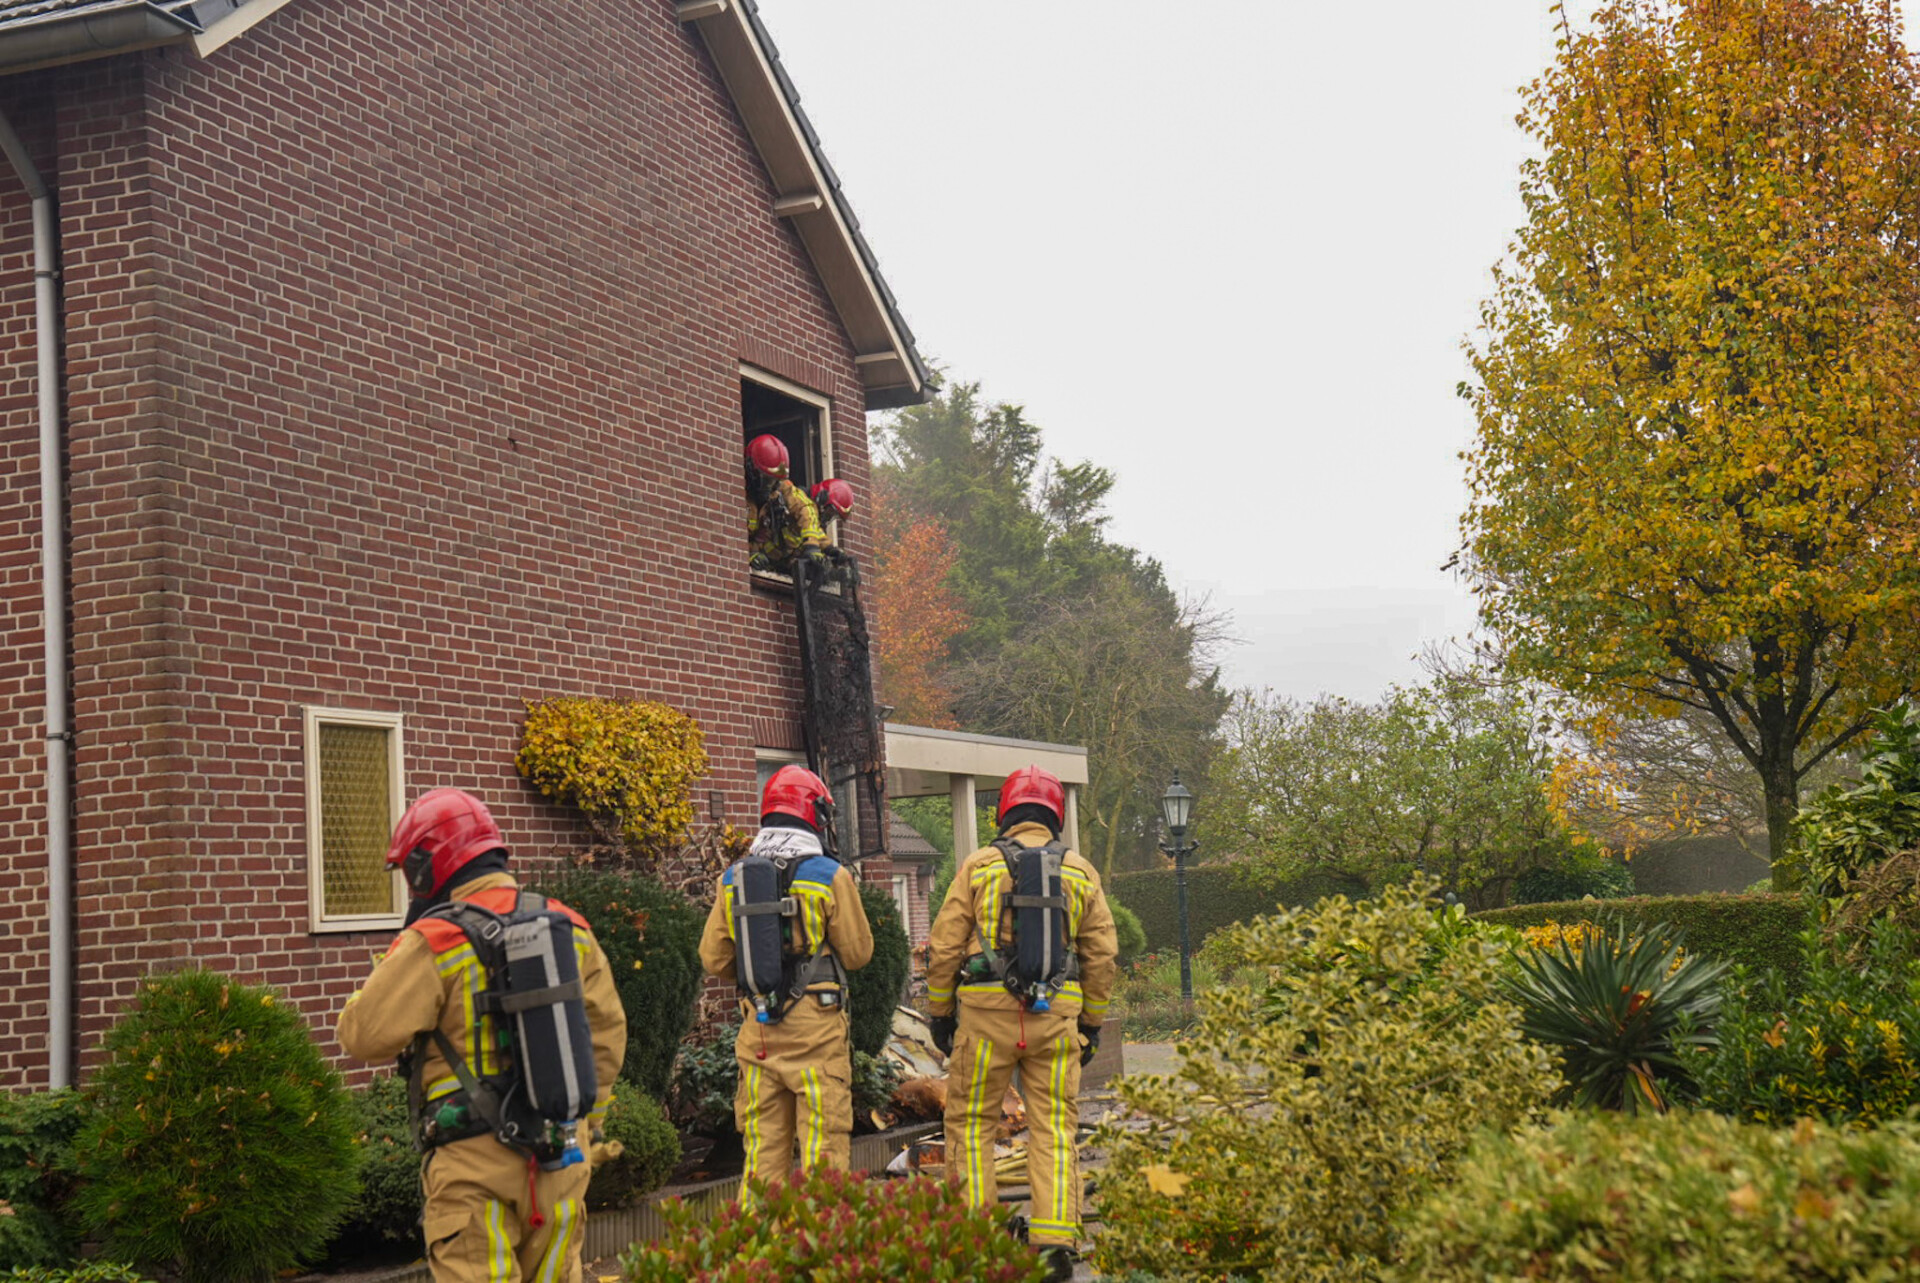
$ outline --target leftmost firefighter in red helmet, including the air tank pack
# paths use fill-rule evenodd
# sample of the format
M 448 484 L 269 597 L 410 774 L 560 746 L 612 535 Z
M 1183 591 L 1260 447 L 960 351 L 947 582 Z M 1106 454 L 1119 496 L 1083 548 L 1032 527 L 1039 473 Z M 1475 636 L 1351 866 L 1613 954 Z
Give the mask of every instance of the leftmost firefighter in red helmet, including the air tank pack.
M 399 1056 L 424 1152 L 434 1283 L 580 1279 L 588 1162 L 626 1012 L 586 918 L 520 891 L 486 805 L 432 789 L 394 830 L 407 928 L 340 1012 L 359 1060 Z

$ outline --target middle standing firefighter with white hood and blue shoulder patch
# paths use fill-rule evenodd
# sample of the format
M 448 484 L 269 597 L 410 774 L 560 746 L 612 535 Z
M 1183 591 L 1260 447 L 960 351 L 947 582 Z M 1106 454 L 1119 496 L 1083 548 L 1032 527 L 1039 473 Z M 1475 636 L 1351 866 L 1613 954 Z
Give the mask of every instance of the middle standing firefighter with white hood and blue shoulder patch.
M 762 1183 L 793 1172 L 795 1143 L 803 1170 L 847 1170 L 851 1156 L 847 972 L 874 956 L 874 930 L 852 872 L 833 859 L 831 814 L 820 776 L 774 772 L 760 832 L 720 876 L 701 935 L 708 974 L 739 985 L 733 1122 L 745 1172 Z

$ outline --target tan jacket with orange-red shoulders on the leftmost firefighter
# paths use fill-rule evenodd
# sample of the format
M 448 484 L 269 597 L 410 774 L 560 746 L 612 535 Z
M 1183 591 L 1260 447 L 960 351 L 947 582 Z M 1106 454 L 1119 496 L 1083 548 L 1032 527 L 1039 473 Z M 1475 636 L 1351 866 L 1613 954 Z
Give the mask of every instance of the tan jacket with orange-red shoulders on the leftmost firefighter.
M 493 912 L 513 908 L 518 884 L 511 874 L 484 874 L 453 887 L 449 899 L 474 901 Z M 589 1122 L 599 1126 L 612 1099 L 612 1083 L 626 1060 L 626 1010 L 612 985 L 612 970 L 586 918 L 551 901 L 574 920 L 574 949 L 580 953 L 580 987 L 593 1028 L 593 1077 L 599 1101 Z M 357 1060 L 392 1060 L 413 1045 L 415 1035 L 438 1028 L 453 1043 L 467 1066 L 480 1076 L 497 1074 L 499 1039 L 492 1016 L 474 1016 L 474 997 L 486 989 L 486 968 L 467 933 L 444 918 L 415 922 L 388 947 L 372 976 L 340 1012 L 340 1045 Z M 453 1068 L 432 1043 L 422 1056 L 426 1099 L 459 1089 Z

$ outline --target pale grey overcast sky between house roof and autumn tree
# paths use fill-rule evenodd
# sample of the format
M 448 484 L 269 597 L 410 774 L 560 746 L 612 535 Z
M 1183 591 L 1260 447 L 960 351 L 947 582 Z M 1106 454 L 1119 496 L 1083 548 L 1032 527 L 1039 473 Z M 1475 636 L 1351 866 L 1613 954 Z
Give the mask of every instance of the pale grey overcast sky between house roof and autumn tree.
M 760 8 L 922 351 L 1117 472 L 1233 684 L 1367 697 L 1465 634 L 1455 384 L 1544 0 Z

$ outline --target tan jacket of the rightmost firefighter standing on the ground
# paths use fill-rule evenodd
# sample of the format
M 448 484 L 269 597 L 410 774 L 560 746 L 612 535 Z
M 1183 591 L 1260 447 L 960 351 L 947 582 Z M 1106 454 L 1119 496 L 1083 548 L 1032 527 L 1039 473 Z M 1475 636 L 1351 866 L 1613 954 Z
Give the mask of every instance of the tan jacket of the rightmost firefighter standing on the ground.
M 1050 841 L 1044 824 L 1016 824 L 1002 834 L 1023 847 Z M 1106 1020 L 1114 997 L 1116 958 L 1119 939 L 1114 933 L 1114 912 L 1106 907 L 1100 874 L 1079 851 L 1068 851 L 1060 862 L 1060 882 L 1068 893 L 1068 937 L 1079 955 L 1079 980 L 1068 981 L 1054 997 L 1054 1010 L 1079 1014 L 1083 1024 Z M 1008 949 L 1014 939 L 1014 910 L 1006 897 L 1014 893 L 1014 874 L 1006 857 L 995 847 L 981 847 L 954 870 L 947 901 L 933 918 L 927 939 L 927 1010 L 950 1016 L 954 999 L 962 1006 L 989 1010 L 1018 1010 L 1020 999 L 993 976 L 962 978 L 962 964 L 979 953 L 985 935 L 993 949 Z

